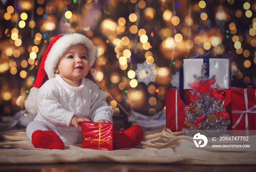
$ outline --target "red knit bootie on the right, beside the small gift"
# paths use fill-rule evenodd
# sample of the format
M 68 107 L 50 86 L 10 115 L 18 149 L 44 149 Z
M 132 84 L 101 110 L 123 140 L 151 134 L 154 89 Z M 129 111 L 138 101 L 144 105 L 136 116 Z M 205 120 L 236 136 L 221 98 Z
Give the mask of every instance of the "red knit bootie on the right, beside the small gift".
M 114 131 L 113 148 L 135 148 L 142 141 L 143 136 L 143 130 L 138 125 L 131 126 L 125 131 L 121 129 L 121 133 Z

